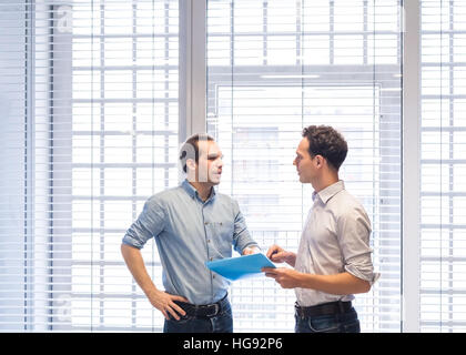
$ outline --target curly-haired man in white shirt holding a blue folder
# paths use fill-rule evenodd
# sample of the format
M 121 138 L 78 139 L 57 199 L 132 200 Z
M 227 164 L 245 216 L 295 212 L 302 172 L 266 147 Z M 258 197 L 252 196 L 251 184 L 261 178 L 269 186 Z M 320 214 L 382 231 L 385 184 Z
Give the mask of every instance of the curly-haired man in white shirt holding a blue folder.
M 338 178 L 346 154 L 347 143 L 333 128 L 303 130 L 293 164 L 300 181 L 314 187 L 314 205 L 296 254 L 278 245 L 267 251 L 273 262 L 294 267 L 263 271 L 295 290 L 296 333 L 359 333 L 353 294 L 368 292 L 378 277 L 371 260 L 371 221 Z

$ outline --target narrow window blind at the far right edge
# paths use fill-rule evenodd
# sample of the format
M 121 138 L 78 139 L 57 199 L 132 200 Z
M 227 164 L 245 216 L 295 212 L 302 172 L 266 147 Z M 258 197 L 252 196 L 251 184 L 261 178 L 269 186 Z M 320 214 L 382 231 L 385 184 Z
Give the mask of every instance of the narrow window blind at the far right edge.
M 421 1 L 422 332 L 466 331 L 466 4 Z

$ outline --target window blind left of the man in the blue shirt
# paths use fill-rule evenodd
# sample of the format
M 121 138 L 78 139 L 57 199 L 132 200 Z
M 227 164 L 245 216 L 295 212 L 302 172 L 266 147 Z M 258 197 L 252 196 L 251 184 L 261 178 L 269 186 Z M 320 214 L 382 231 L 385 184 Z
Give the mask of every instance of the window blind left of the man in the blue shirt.
M 0 28 L 0 329 L 161 331 L 120 245 L 178 184 L 179 2 L 2 2 Z

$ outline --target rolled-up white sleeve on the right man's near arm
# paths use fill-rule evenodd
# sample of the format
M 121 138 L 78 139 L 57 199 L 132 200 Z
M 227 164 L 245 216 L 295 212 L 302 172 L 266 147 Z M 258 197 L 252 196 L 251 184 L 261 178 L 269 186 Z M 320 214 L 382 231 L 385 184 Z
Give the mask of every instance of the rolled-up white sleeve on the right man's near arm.
M 345 271 L 373 285 L 379 274 L 374 273 L 372 263 L 372 230 L 367 214 L 362 209 L 356 209 L 341 216 L 337 223 L 337 237 Z

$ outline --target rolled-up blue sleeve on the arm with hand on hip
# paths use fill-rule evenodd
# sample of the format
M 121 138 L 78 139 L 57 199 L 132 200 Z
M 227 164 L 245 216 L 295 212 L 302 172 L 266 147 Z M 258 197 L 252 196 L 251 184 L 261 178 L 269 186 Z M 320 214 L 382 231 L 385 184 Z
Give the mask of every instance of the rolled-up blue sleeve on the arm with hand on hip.
M 131 224 L 123 236 L 123 244 L 142 248 L 153 236 L 164 229 L 164 210 L 153 200 L 148 200 L 138 220 Z

